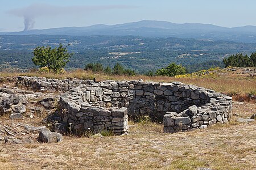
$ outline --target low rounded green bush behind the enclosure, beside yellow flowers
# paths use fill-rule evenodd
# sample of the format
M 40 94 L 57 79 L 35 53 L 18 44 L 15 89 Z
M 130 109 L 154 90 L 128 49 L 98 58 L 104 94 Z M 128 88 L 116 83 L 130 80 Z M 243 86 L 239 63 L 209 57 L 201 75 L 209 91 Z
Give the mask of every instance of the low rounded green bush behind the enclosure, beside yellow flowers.
M 167 67 L 156 70 L 155 75 L 167 75 L 175 76 L 180 74 L 186 74 L 187 70 L 181 65 L 176 65 L 176 63 L 170 63 Z

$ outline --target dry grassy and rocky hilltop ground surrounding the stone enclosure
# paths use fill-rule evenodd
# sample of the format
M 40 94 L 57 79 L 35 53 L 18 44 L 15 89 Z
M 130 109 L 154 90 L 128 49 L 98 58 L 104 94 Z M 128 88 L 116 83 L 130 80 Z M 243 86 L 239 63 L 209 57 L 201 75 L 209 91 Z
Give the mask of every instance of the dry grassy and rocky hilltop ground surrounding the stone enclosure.
M 23 75 L 60 79 L 94 77 L 97 81 L 139 78 L 156 82 L 181 81 L 229 95 L 240 94 L 245 95 L 245 98 L 247 94 L 255 95 L 256 79 L 253 68 L 227 68 L 203 73 L 187 75 L 184 78 L 108 76 L 81 70 L 62 75 Z M 1 141 L 0 169 L 253 169 L 256 166 L 255 121 L 236 121 L 237 118 L 251 117 L 256 113 L 253 98 L 241 100 L 241 97 L 233 96 L 233 117 L 229 124 L 217 124 L 208 129 L 164 134 L 161 124 L 147 119 L 137 122 L 129 120 L 130 130 L 127 135 L 99 137 L 91 134 L 89 138 L 88 135 L 67 135 L 63 142 L 38 143 L 35 127 L 45 125 L 45 118 L 55 112 L 55 101 L 50 98 L 57 97 L 59 93 L 17 88 L 13 82 L 15 75 L 18 74 L 1 73 L 5 77 L 1 79 L 1 94 L 25 94 L 32 99 L 28 100 L 29 112 L 24 114 L 22 120 L 10 120 L 9 116 L 0 117 L 0 129 L 5 134 L 14 135 L 8 141 Z M 0 130 L 0 134 L 3 131 Z

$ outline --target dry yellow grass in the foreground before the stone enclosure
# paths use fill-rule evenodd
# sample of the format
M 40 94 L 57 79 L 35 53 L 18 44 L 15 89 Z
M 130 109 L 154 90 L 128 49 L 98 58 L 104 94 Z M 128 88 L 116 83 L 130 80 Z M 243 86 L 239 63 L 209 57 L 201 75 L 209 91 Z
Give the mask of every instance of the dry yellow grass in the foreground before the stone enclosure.
M 256 105 L 234 103 L 248 117 Z M 64 137 L 61 143 L 1 145 L 0 169 L 255 169 L 256 123 L 217 124 L 175 134 L 133 123 L 130 133 L 104 138 Z

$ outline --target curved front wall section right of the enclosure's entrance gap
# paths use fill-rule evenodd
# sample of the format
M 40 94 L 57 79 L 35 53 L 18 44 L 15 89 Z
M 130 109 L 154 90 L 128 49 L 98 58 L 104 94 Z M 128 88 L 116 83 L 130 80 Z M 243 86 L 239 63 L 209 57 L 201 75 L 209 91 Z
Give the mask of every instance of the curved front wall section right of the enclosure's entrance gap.
M 232 98 L 229 96 L 210 96 L 210 103 L 197 107 L 192 105 L 183 112 L 166 112 L 163 118 L 164 133 L 195 128 L 207 128 L 217 122 L 228 123 L 231 118 Z

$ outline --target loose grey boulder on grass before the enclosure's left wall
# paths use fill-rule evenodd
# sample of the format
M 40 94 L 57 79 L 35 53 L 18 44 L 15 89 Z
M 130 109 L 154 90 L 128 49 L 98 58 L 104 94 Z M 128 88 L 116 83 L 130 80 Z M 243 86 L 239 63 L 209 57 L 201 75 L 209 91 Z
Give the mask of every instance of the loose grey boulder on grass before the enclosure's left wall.
M 39 133 L 39 142 L 42 143 L 56 143 L 62 141 L 62 135 L 60 133 L 55 133 L 51 131 L 40 131 Z

